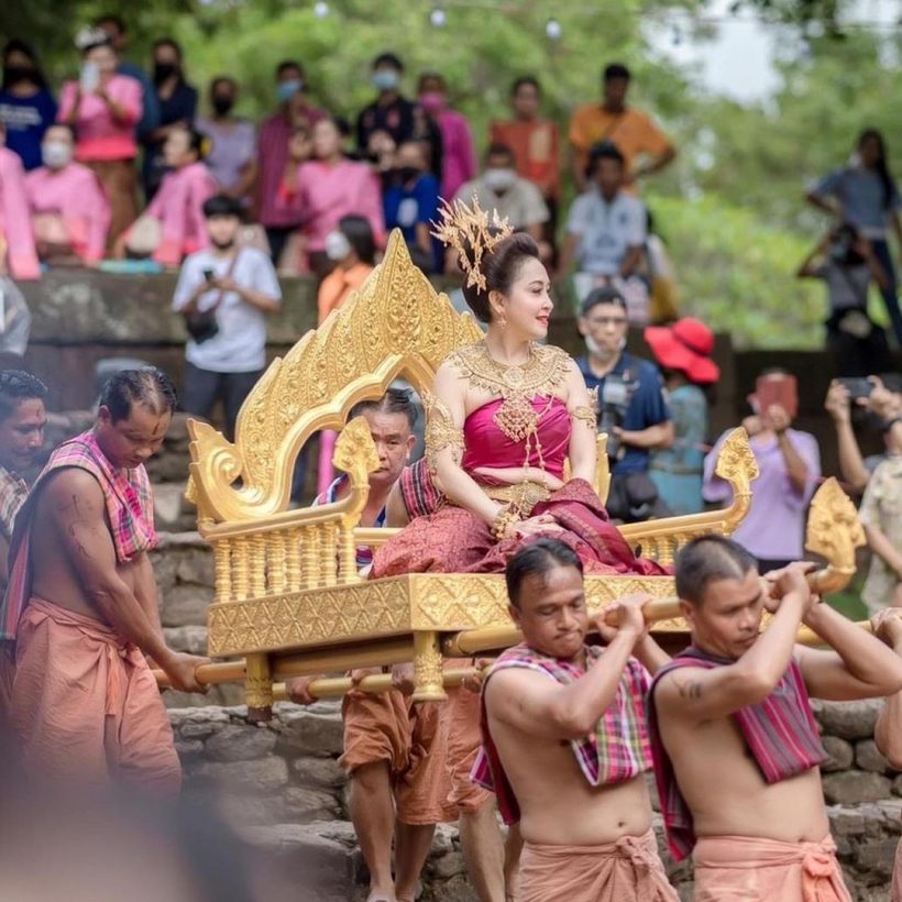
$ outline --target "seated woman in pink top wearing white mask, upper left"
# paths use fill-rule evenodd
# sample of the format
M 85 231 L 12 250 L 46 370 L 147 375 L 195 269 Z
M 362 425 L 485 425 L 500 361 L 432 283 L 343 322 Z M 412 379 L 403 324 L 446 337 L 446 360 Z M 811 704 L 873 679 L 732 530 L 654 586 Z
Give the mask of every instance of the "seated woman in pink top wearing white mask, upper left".
M 41 142 L 44 165 L 25 176 L 35 243 L 42 258 L 75 255 L 88 266 L 103 258 L 110 204 L 97 176 L 73 160 L 68 125 L 51 125 Z

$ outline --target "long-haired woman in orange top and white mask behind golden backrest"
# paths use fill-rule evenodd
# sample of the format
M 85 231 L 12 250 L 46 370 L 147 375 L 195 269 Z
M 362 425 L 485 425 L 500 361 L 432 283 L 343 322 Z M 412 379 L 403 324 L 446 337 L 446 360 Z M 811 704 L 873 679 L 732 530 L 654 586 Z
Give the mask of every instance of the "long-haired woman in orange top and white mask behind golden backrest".
M 338 229 L 326 235 L 326 256 L 334 262 L 334 267 L 319 286 L 317 293 L 317 323 L 338 310 L 360 288 L 366 276 L 373 272 L 376 258 L 376 239 L 370 220 L 362 216 L 345 216 L 339 220 Z M 324 429 L 319 436 L 319 473 L 317 493 L 322 494 L 332 480 L 332 453 L 338 433 Z

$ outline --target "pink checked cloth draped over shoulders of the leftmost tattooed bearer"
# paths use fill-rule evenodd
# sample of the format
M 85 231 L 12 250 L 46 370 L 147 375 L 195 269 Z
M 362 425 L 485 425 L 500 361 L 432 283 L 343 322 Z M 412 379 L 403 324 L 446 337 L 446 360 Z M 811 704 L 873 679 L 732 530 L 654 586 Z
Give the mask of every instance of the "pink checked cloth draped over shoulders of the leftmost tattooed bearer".
M 0 608 L 0 638 L 15 639 L 19 618 L 31 597 L 31 518 L 40 488 L 52 472 L 68 466 L 86 470 L 100 484 L 119 563 L 128 563 L 136 554 L 156 546 L 153 492 L 144 466 L 124 472 L 114 470 L 91 431 L 63 442 L 51 454 L 16 517 L 10 546 L 10 581 Z

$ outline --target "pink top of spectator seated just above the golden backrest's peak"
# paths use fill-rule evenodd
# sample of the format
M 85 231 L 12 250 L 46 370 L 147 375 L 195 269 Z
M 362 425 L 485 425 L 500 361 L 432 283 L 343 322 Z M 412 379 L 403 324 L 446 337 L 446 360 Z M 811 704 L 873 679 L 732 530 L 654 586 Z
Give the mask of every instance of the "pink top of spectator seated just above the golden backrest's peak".
M 382 190 L 378 177 L 366 163 L 302 163 L 297 183 L 297 194 L 288 204 L 300 213 L 310 251 L 324 251 L 326 235 L 338 229 L 345 216 L 362 216 L 370 222 L 376 244 L 385 244 Z

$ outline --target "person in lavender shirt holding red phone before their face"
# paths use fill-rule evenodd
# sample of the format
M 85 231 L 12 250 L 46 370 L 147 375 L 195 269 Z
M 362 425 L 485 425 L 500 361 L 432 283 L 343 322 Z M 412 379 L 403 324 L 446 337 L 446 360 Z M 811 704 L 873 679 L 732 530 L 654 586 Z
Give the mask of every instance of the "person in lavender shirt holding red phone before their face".
M 733 535 L 766 573 L 802 558 L 805 514 L 821 480 L 821 452 L 810 432 L 792 428 L 799 409 L 795 376 L 782 370 L 762 373 L 749 396 L 751 416 L 743 420 L 758 463 L 751 506 Z M 732 429 L 705 458 L 705 501 L 729 504 L 729 483 L 714 473 Z

